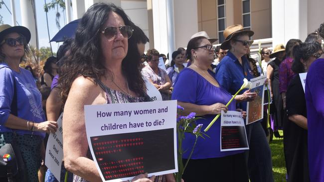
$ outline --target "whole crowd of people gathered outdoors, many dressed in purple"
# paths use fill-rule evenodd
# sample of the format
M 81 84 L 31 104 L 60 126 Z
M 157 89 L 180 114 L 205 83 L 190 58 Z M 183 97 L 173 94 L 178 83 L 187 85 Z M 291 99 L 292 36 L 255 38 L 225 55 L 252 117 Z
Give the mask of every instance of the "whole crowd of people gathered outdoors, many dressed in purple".
M 252 30 L 231 25 L 223 35 L 224 42 L 217 47 L 213 46 L 217 39 L 202 31 L 192 35 L 186 49 L 180 47 L 171 55 L 156 49 L 144 54 L 149 39 L 124 10 L 95 3 L 83 15 L 74 39 L 67 39 L 57 57 L 46 60 L 44 74 L 37 78 L 30 66 L 19 67 L 29 53 L 29 30 L 0 25 L 0 148 L 16 141 L 28 182 L 64 181 L 55 179 L 44 166 L 46 136 L 56 132 L 56 120 L 64 110 L 62 173 L 69 172 L 70 182 L 101 181 L 88 146 L 84 105 L 146 102 L 153 101 L 153 94 L 161 94 L 162 100 L 177 100 L 184 108 L 182 114 L 201 115 L 196 123 L 205 127 L 222 110 L 239 111 L 245 118 L 247 102 L 257 93 L 245 89 L 231 104 L 226 103 L 243 79 L 264 75 L 272 100 L 269 124 L 275 137 L 284 138 L 287 181 L 324 182 L 324 145 L 320 143 L 324 137 L 324 25 L 305 42 L 291 39 L 286 46 L 263 48 L 261 65 L 250 56 Z M 305 89 L 301 73 L 308 73 Z M 220 122 L 216 122 L 206 132 L 208 138 L 198 139 L 183 180 L 274 182 L 267 125 L 263 119 L 245 126 L 249 150 L 221 152 Z M 190 151 L 193 143 L 195 137 L 186 134 L 183 150 Z M 184 164 L 188 158 L 184 153 Z M 175 180 L 172 174 L 141 174 L 129 181 Z

